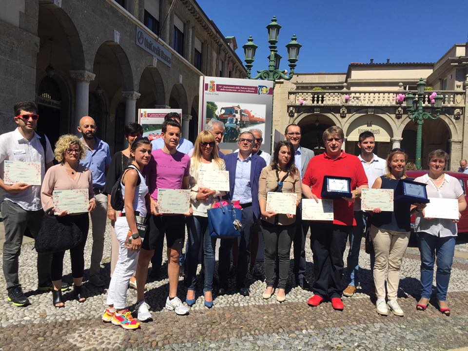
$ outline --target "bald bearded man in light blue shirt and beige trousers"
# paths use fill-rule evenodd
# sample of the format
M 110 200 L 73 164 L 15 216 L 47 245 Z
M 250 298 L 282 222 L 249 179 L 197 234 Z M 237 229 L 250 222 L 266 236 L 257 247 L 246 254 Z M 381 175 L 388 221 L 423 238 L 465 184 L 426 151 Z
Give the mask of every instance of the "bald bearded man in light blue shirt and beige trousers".
M 103 287 L 104 282 L 99 276 L 102 252 L 104 250 L 104 232 L 107 220 L 107 195 L 103 194 L 106 183 L 106 173 L 111 163 L 109 145 L 96 137 L 95 120 L 84 116 L 79 120 L 78 132 L 81 133 L 86 156 L 79 163 L 89 168 L 93 174 L 93 190 L 96 197 L 96 209 L 91 213 L 93 224 L 93 249 L 91 251 L 91 266 L 89 282 L 97 287 Z

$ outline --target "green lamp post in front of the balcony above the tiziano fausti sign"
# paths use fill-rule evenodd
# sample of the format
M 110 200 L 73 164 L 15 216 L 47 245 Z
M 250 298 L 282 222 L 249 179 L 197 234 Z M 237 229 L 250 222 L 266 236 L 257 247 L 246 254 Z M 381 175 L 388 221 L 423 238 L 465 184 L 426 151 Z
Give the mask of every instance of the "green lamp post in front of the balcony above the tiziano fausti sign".
M 411 92 L 406 94 L 406 107 L 408 111 L 408 118 L 411 119 L 414 123 L 416 123 L 416 168 L 418 170 L 422 169 L 421 167 L 421 147 L 422 147 L 422 136 L 423 136 L 423 123 L 425 119 L 437 119 L 439 117 L 440 112 L 442 111 L 442 100 L 444 97 L 442 95 L 437 94 L 434 98 L 435 104 L 433 107 L 435 110 L 435 116 L 432 116 L 431 113 L 424 111 L 423 109 L 423 102 L 424 102 L 424 87 L 426 86 L 426 82 L 423 78 L 420 78 L 419 81 L 416 83 L 417 86 L 417 93 L 414 96 Z M 417 100 L 415 99 L 417 97 Z

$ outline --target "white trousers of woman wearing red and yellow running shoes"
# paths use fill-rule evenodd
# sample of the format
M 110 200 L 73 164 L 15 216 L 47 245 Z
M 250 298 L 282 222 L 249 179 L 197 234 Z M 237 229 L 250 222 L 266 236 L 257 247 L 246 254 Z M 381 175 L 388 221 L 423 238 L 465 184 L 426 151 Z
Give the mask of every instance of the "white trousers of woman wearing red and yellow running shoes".
M 114 305 L 117 310 L 127 307 L 128 282 L 137 269 L 138 252 L 125 247 L 125 240 L 129 231 L 127 219 L 118 217 L 115 224 L 117 240 L 120 244 L 118 260 L 112 274 L 109 290 L 107 291 L 107 304 Z

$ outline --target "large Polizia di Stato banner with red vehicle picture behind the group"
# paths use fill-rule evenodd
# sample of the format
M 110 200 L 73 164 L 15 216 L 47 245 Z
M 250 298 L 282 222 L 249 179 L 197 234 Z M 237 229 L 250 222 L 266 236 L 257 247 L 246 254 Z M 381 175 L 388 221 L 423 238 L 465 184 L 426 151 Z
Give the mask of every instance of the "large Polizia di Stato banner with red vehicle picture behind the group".
M 200 77 L 199 131 L 212 118 L 224 123 L 221 149 L 237 149 L 241 132 L 259 129 L 261 149 L 270 152 L 273 115 L 273 82 L 268 80 Z

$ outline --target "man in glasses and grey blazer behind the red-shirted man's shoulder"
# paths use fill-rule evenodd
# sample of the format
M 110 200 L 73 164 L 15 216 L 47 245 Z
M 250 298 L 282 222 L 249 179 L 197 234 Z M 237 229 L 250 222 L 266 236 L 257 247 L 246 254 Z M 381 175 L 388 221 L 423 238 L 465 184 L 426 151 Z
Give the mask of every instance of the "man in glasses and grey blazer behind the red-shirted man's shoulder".
M 311 149 L 302 147 L 301 142 L 301 127 L 297 124 L 290 124 L 286 127 L 284 131 L 284 137 L 286 140 L 292 143 L 294 147 L 294 162 L 297 169 L 299 169 L 301 180 L 304 174 L 306 173 L 307 165 L 309 161 L 314 156 Z M 309 221 L 303 221 L 301 219 L 301 208 L 299 205 L 296 213 L 296 232 L 294 234 L 294 278 L 296 285 L 300 286 L 302 289 L 309 289 L 309 284 L 304 276 L 306 273 L 306 235 L 309 230 Z

